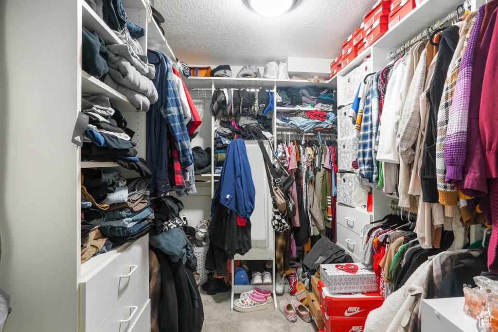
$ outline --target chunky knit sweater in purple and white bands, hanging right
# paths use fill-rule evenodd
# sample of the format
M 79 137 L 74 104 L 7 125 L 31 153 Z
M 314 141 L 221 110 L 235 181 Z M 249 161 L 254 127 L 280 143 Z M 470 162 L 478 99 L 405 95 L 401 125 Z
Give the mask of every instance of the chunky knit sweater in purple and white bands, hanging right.
M 446 164 L 446 182 L 462 180 L 462 171 L 467 155 L 467 121 L 469 115 L 470 85 L 474 65 L 474 50 L 481 31 L 484 8 L 481 6 L 465 49 L 460 72 L 455 86 L 453 102 L 448 116 L 448 130 L 444 143 L 444 162 Z

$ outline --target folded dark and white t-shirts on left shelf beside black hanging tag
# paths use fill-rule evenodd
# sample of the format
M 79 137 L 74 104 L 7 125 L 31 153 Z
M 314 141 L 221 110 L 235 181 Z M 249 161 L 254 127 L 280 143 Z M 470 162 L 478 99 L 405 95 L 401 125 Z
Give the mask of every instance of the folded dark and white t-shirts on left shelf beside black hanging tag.
M 82 160 L 114 161 L 143 177 L 151 177 L 145 161 L 136 156 L 136 143 L 130 136 L 133 131 L 126 128 L 126 117 L 119 109 L 111 107 L 107 97 L 83 94 L 81 110 L 89 116 L 81 150 Z

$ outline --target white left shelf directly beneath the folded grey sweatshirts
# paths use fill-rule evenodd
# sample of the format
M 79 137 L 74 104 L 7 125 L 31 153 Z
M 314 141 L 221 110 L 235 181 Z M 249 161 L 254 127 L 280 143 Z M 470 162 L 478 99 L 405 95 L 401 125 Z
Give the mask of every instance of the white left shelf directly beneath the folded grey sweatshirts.
M 135 107 L 130 104 L 128 98 L 123 94 L 83 70 L 81 71 L 81 92 L 106 96 L 113 103 L 113 106 L 121 111 L 136 111 Z

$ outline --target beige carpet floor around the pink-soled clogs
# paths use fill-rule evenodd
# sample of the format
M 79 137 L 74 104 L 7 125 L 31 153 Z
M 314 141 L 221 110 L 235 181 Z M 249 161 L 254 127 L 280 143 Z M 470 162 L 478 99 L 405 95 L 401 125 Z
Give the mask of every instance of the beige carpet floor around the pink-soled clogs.
M 251 313 L 230 311 L 231 293 L 208 295 L 200 289 L 204 305 L 204 326 L 202 332 L 317 332 L 315 323 L 306 323 L 300 317 L 290 323 L 274 304 L 264 310 Z M 237 294 L 235 296 L 238 296 Z M 277 295 L 277 303 L 295 299 L 288 293 Z

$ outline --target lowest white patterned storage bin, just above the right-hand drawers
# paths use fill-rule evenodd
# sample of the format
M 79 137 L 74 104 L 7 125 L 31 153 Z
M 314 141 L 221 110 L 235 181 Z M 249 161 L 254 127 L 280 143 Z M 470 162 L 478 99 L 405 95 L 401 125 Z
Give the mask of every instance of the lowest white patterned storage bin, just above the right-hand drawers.
M 370 187 L 353 173 L 337 173 L 337 203 L 350 207 L 367 205 Z

